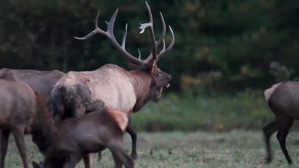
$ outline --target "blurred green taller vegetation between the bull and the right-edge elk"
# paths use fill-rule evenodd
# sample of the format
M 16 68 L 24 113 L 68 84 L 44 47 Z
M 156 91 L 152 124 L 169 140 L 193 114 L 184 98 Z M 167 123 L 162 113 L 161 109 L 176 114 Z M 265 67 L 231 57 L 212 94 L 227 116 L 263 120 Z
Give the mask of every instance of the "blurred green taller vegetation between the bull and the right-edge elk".
M 158 103 L 147 103 L 140 112 L 131 115 L 134 128 L 149 132 L 255 130 L 274 119 L 260 91 L 196 97 L 193 93 L 168 94 Z

